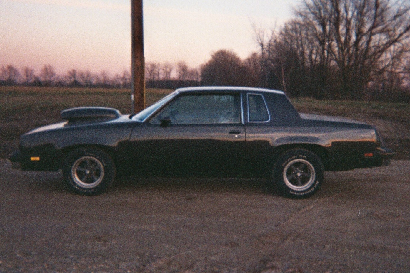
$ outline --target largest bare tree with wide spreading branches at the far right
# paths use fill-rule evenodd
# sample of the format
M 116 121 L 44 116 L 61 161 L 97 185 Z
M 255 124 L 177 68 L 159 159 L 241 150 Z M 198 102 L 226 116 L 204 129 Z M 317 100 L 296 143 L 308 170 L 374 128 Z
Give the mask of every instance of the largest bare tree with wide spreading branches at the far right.
M 305 0 L 304 3 L 305 12 L 301 11 L 299 16 L 312 23 L 310 33 L 323 26 L 330 34 L 329 41 L 321 40 L 321 36 L 314 38 L 337 65 L 342 97 L 360 98 L 369 81 L 389 70 L 409 50 L 407 0 Z M 323 30 L 319 33 L 325 35 Z

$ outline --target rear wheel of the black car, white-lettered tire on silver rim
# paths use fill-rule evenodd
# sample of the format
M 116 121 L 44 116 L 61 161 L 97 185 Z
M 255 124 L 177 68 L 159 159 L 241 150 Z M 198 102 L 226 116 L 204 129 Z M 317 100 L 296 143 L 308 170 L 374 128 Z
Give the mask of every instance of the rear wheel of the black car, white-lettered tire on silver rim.
M 272 176 L 285 196 L 306 198 L 319 190 L 323 182 L 323 164 L 311 151 L 292 149 L 278 157 Z

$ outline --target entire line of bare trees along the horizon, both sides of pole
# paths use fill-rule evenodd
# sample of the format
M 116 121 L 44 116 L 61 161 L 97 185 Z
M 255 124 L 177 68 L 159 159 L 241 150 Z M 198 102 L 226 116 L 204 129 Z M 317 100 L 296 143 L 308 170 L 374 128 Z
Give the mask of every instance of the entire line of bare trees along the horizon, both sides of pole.
M 146 86 L 257 86 L 289 97 L 410 102 L 410 3 L 408 0 L 302 0 L 280 28 L 254 27 L 259 50 L 241 59 L 218 50 L 198 68 L 148 62 Z M 39 75 L 2 66 L 0 84 L 130 88 L 130 72 L 69 70 Z

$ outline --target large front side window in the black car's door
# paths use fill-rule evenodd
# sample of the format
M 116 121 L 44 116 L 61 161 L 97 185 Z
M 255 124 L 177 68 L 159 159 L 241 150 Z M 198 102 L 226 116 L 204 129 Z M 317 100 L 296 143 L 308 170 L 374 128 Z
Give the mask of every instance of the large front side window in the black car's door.
M 241 123 L 240 96 L 236 94 L 181 95 L 150 121 L 160 124 L 237 124 Z

